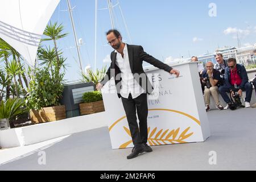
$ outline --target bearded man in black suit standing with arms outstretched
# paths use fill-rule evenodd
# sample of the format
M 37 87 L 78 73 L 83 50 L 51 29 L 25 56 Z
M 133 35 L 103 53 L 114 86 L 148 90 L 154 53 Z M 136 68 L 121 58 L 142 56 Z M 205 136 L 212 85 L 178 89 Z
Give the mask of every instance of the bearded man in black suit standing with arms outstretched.
M 114 76 L 117 95 L 122 100 L 133 139 L 134 148 L 127 156 L 127 159 L 132 159 L 143 152 L 152 151 L 152 148 L 147 145 L 147 93 L 150 94 L 154 88 L 143 71 L 143 60 L 176 77 L 179 77 L 179 71 L 148 55 L 143 51 L 142 46 L 123 43 L 122 36 L 117 30 L 109 30 L 106 38 L 115 51 L 111 53 L 112 62 L 106 76 L 96 88 L 100 90 Z

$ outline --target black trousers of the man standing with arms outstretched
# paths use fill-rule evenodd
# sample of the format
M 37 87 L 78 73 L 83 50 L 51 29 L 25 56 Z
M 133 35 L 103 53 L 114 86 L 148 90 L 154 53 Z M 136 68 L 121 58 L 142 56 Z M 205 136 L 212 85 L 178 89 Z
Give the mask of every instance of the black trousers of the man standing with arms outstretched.
M 128 98 L 121 97 L 121 99 L 134 146 L 141 143 L 147 143 L 147 94 L 143 93 L 137 98 L 133 98 L 131 97 L 131 94 L 129 94 Z M 139 126 L 136 110 L 139 119 Z

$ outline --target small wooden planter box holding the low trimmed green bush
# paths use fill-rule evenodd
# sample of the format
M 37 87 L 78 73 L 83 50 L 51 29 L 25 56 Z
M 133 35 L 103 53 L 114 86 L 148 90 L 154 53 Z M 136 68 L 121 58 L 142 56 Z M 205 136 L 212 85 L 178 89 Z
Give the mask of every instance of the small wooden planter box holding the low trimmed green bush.
M 81 115 L 100 113 L 102 111 L 105 111 L 103 101 L 82 103 L 79 104 L 79 107 Z

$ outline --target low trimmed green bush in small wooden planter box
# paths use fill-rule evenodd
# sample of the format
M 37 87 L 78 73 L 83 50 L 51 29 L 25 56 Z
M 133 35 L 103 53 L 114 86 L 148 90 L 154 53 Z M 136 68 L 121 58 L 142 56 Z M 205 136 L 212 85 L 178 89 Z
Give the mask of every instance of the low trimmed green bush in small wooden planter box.
M 82 101 L 84 103 L 79 104 L 81 115 L 105 111 L 102 94 L 99 91 L 85 92 Z

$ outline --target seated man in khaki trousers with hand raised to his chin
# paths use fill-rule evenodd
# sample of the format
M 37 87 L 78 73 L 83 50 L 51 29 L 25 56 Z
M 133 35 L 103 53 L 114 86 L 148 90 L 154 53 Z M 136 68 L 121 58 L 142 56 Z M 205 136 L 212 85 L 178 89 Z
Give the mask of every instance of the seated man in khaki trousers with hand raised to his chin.
M 206 70 L 203 71 L 203 84 L 206 86 L 204 89 L 204 102 L 206 111 L 210 110 L 210 94 L 212 94 L 215 104 L 219 110 L 224 109 L 218 100 L 218 82 L 220 81 L 220 72 L 213 68 L 213 63 L 206 64 Z

